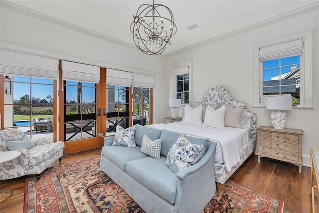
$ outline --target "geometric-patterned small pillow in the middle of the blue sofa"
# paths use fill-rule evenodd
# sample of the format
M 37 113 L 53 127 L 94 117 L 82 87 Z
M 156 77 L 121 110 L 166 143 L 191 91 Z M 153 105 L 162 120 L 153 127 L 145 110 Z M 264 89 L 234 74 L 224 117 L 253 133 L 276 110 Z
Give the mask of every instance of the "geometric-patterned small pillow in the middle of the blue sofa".
M 143 136 L 141 152 L 153 158 L 160 159 L 160 139 L 152 141 L 147 135 Z

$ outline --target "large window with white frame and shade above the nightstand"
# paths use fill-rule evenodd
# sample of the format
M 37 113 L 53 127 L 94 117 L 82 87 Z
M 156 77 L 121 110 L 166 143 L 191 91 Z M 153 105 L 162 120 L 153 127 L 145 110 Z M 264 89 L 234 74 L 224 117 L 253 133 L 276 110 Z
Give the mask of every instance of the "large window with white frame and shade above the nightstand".
M 274 95 L 291 95 L 295 107 L 312 107 L 311 31 L 256 44 L 255 61 L 254 107 Z

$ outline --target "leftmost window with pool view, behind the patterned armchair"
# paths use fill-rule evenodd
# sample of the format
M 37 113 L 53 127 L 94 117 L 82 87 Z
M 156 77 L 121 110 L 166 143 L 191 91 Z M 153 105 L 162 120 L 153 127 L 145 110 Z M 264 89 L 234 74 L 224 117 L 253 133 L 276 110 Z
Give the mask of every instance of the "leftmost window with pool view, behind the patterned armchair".
M 53 138 L 53 80 L 12 78 L 12 94 L 4 97 L 4 128 L 17 127 L 31 139 Z

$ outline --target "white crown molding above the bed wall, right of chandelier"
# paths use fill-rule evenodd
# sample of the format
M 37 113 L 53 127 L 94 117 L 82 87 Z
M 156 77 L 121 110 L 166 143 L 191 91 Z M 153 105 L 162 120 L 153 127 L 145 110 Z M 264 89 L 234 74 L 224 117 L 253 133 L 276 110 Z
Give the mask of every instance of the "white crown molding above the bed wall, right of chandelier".
M 189 49 L 193 49 L 193 48 L 196 48 L 196 47 L 207 45 L 209 43 L 216 43 L 218 41 L 221 41 L 221 40 L 233 37 L 233 36 L 237 36 L 237 35 L 249 32 L 249 31 L 253 31 L 253 30 L 268 26 L 270 24 L 274 24 L 274 23 L 277 23 L 277 22 L 280 22 L 280 21 L 283 21 L 283 20 L 287 20 L 287 19 L 290 19 L 290 18 L 293 18 L 293 17 L 297 17 L 297 16 L 300 16 L 300 15 L 303 15 L 303 14 L 307 14 L 307 13 L 310 13 L 310 12 L 313 12 L 313 11 L 316 11 L 316 10 L 319 10 L 319 2 L 311 3 L 311 4 L 308 4 L 308 5 L 304 6 L 304 7 L 301 7 L 301 8 L 295 9 L 295 10 L 291 10 L 291 11 L 288 11 L 288 12 L 273 16 L 271 18 L 267 18 L 265 20 L 262 20 L 262 21 L 259 21 L 259 22 L 256 22 L 256 23 L 253 23 L 253 24 L 250 24 L 250 25 L 238 28 L 238 29 L 235 29 L 233 31 L 218 35 L 216 37 L 213 37 L 213 38 L 207 39 L 205 41 L 202 41 L 202 42 L 187 46 L 185 48 L 178 49 L 176 51 L 173 51 L 173 52 L 170 52 L 170 53 L 167 53 L 167 54 L 163 54 L 163 56 L 164 57 L 173 56 L 175 54 L 184 52 L 184 51 L 189 50 Z

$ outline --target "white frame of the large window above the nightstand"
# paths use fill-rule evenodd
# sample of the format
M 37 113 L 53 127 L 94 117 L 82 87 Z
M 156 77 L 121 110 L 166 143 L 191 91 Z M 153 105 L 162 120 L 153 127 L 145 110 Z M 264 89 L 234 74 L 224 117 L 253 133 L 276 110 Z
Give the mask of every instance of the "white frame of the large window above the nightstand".
M 263 62 L 259 59 L 260 48 L 297 39 L 304 41 L 304 54 L 300 57 L 300 104 L 294 108 L 313 108 L 313 32 L 306 31 L 285 38 L 272 39 L 254 45 L 254 98 L 253 107 L 266 107 L 263 103 Z

